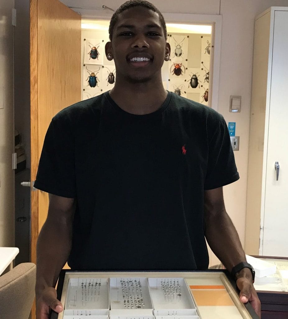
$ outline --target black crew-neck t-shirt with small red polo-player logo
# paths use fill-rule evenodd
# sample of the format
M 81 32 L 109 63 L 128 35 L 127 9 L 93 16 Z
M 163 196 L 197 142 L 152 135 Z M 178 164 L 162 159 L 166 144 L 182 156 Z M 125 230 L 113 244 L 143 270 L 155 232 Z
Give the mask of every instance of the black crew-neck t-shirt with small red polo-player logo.
M 169 92 L 134 115 L 106 92 L 54 116 L 35 187 L 76 198 L 72 269 L 204 270 L 204 190 L 238 179 L 213 109 Z

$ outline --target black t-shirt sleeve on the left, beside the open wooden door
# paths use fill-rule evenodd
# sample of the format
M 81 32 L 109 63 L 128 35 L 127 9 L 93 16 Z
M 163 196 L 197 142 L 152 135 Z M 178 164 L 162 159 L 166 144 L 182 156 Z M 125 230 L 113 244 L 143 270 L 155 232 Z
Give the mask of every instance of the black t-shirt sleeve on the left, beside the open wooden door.
M 53 118 L 45 139 L 34 187 L 61 197 L 74 198 L 74 136 L 67 120 Z

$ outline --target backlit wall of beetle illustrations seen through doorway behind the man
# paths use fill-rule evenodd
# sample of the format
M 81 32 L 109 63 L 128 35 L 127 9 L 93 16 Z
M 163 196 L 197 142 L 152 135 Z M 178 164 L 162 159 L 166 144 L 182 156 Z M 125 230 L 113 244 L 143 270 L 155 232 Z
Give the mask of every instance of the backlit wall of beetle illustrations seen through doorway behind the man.
M 105 44 L 109 41 L 108 22 L 107 25 L 104 21 L 94 23 L 95 29 L 82 29 L 82 100 L 111 90 L 117 78 L 114 60 L 109 61 L 105 56 Z M 209 29 L 209 26 L 204 27 L 203 32 L 207 27 Z M 167 26 L 167 32 L 171 53 L 170 60 L 163 63 L 161 70 L 164 88 L 187 99 L 211 105 L 212 27 L 210 33 L 195 33 Z

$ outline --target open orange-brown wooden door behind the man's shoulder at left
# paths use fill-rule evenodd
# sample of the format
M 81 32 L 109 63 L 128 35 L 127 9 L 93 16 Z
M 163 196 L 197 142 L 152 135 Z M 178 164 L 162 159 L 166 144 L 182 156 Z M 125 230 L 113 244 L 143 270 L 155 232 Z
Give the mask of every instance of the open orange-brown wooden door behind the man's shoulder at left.
M 81 100 L 81 16 L 58 0 L 30 0 L 31 181 L 52 117 Z M 31 260 L 48 195 L 31 194 Z

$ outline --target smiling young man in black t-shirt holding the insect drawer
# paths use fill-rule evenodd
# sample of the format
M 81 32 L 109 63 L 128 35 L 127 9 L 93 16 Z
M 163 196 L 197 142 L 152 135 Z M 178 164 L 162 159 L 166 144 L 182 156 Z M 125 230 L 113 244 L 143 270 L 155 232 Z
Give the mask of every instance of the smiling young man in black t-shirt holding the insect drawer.
M 45 138 L 35 182 L 49 193 L 37 318 L 63 310 L 53 287 L 67 260 L 75 270 L 204 270 L 205 237 L 229 271 L 236 266 L 241 301 L 260 315 L 223 202 L 222 186 L 239 178 L 223 117 L 163 88 L 170 46 L 152 4 L 123 4 L 109 34 L 114 88 L 62 110 Z

